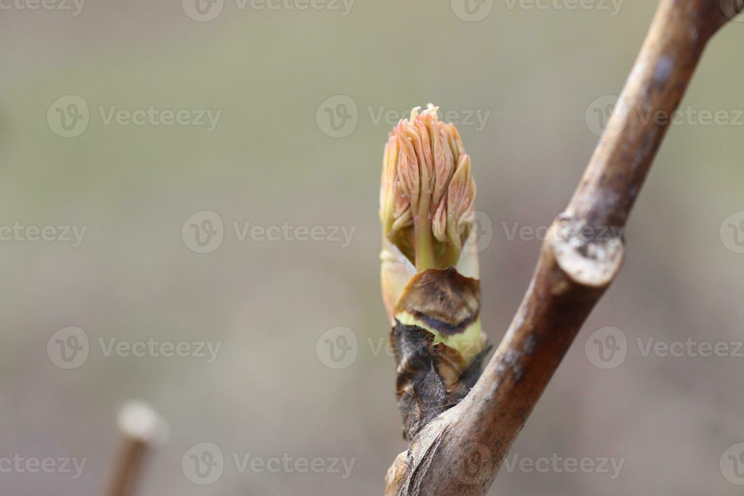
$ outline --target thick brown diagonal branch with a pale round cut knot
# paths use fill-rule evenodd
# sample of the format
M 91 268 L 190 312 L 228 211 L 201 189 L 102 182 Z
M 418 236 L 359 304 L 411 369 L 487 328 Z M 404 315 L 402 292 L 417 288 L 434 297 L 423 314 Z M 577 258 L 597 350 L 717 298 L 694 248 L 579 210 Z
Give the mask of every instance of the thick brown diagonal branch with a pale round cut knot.
M 565 352 L 618 274 L 623 228 L 668 122 L 708 40 L 743 3 L 661 0 L 608 128 L 551 227 L 507 335 L 465 399 L 411 439 L 388 471 L 386 495 L 486 494 Z

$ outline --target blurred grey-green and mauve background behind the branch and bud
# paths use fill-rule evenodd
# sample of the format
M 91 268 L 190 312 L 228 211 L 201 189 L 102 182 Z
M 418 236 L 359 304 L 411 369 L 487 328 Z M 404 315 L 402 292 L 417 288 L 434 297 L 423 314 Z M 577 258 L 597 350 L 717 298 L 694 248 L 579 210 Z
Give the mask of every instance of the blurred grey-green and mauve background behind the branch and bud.
M 498 344 L 656 4 L 272 1 L 0 3 L 2 494 L 102 494 L 141 399 L 170 437 L 140 495 L 381 495 L 406 447 L 388 130 L 429 102 L 458 124 Z M 742 42 L 731 22 L 708 46 L 623 271 L 490 494 L 741 494 Z M 594 332 L 621 358 L 597 361 Z M 594 468 L 529 469 L 551 457 Z

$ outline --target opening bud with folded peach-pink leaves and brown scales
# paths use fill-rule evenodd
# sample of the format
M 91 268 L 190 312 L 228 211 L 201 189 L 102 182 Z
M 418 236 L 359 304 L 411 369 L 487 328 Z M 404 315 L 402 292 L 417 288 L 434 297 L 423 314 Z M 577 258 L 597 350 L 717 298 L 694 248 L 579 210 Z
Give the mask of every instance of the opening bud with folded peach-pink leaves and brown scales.
M 437 107 L 419 109 L 394 126 L 383 155 L 382 296 L 394 326 L 429 332 L 432 347 L 449 350 L 435 367 L 452 385 L 486 346 L 478 254 L 462 249 L 475 222 L 475 181 L 455 126 Z

